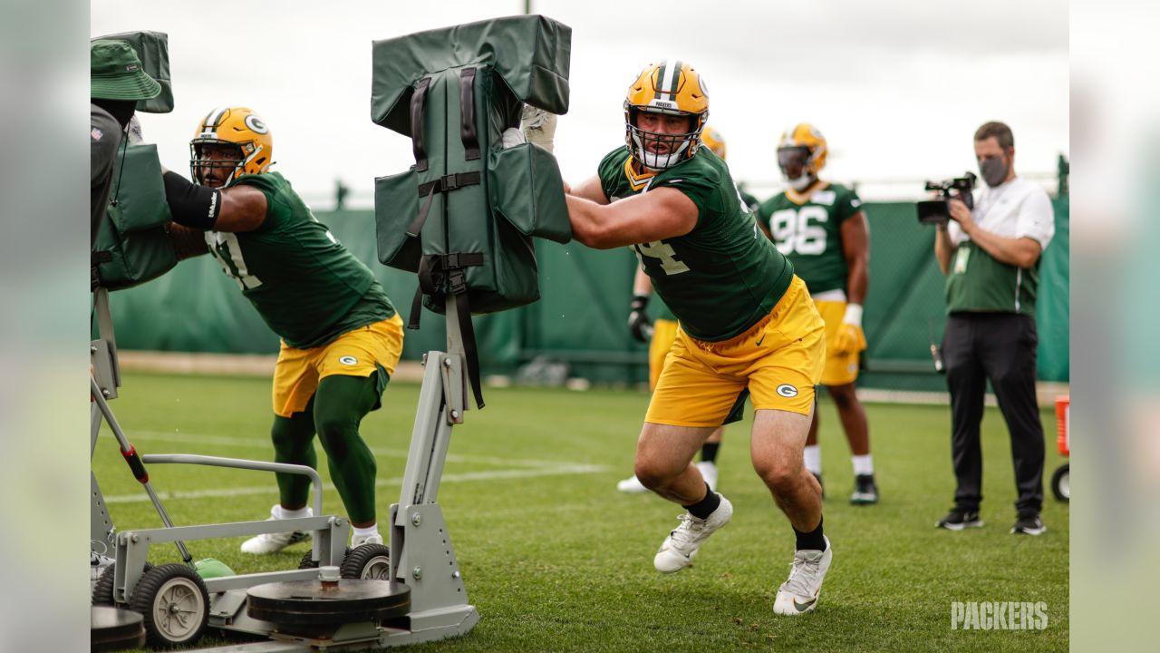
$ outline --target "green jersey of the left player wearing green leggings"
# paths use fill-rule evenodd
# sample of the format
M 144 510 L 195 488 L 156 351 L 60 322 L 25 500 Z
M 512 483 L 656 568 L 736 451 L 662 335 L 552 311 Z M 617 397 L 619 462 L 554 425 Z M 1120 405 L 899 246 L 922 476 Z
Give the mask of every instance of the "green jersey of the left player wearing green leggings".
M 277 172 L 237 184 L 266 195 L 254 231 L 206 231 L 210 253 L 287 345 L 311 349 L 386 320 L 394 307 L 370 270 L 318 222 Z

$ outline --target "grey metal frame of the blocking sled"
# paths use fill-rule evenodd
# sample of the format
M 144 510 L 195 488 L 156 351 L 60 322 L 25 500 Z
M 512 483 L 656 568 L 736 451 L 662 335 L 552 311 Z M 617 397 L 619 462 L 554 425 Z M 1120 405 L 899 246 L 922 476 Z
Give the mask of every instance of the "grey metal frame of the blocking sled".
M 121 385 L 113 321 L 108 311 L 108 293 L 97 289 L 96 311 L 101 333 L 108 339 L 93 342 L 94 358 L 92 450 L 102 421 L 118 433 L 108 406 Z M 430 351 L 423 356 L 422 388 L 415 411 L 411 449 L 398 503 L 390 509 L 391 560 L 389 577 L 411 589 L 411 612 L 382 624 L 357 623 L 322 629 L 312 636 L 281 632 L 277 624 L 254 619 L 246 613 L 246 590 L 268 582 L 311 580 L 317 569 L 295 569 L 206 579 L 210 594 L 209 627 L 266 636 L 270 641 L 203 648 L 206 652 L 297 652 L 340 651 L 401 646 L 466 634 L 479 622 L 479 612 L 467 602 L 467 591 L 455 555 L 443 511 L 436 502 L 443 466 L 450 445 L 451 429 L 462 424 L 467 409 L 466 357 L 459 332 L 454 297 L 447 300 L 448 351 Z M 90 451 L 92 454 L 92 451 Z M 114 602 L 129 603 L 144 573 L 148 547 L 154 544 L 222 537 L 303 530 L 313 532 L 312 559 L 320 565 L 341 565 L 350 524 L 342 518 L 321 516 L 321 479 L 306 466 L 256 460 L 191 454 L 143 455 L 145 464 L 209 465 L 238 469 L 284 472 L 311 478 L 313 508 L 317 517 L 261 522 L 237 522 L 196 526 L 167 526 L 117 532 L 104 505 L 103 496 L 92 476 L 92 538 L 108 543 L 116 553 Z

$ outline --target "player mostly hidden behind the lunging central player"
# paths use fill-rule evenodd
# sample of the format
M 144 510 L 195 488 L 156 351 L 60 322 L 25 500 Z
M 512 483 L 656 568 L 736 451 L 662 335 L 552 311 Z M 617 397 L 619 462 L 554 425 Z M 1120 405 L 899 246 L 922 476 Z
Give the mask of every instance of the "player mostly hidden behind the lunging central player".
M 725 138 L 720 132 L 706 124 L 701 130 L 701 142 L 704 146 L 709 148 L 709 151 L 717 155 L 722 160 L 725 160 Z M 741 200 L 745 201 L 749 209 L 756 211 L 757 200 L 740 188 L 738 191 L 741 194 Z M 657 309 L 655 320 L 648 320 L 647 307 L 651 296 L 652 281 L 644 268 L 638 267 L 636 278 L 632 280 L 632 303 L 629 306 L 629 332 L 637 342 L 648 343 L 650 390 L 657 388 L 657 379 L 660 378 L 660 371 L 665 366 L 665 357 L 668 356 L 668 350 L 673 349 L 673 340 L 676 339 L 676 317 L 664 302 Z M 697 462 L 701 475 L 705 478 L 705 482 L 709 483 L 709 488 L 712 490 L 717 489 L 717 452 L 720 450 L 724 430 L 724 426 L 718 426 L 705 440 L 705 444 L 701 445 L 701 462 Z M 635 475 L 616 483 L 616 489 L 632 494 L 648 491 L 648 488 Z

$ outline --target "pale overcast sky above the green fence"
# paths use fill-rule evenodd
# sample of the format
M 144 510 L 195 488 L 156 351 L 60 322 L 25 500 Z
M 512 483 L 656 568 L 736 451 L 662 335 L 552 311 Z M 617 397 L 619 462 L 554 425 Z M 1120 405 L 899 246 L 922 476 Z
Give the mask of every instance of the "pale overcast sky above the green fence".
M 211 108 L 248 106 L 270 125 L 276 170 L 327 208 L 336 179 L 365 203 L 375 177 L 413 163 L 408 139 L 370 122 L 371 42 L 522 12 L 523 0 L 94 0 L 90 35 L 169 35 L 176 108 L 143 120 L 167 166 L 188 171 Z M 532 0 L 532 12 L 572 28 L 572 105 L 556 136 L 568 180 L 623 142 L 624 92 L 662 57 L 705 77 L 709 122 L 759 195 L 778 180 L 778 135 L 802 121 L 826 135 L 824 177 L 839 181 L 918 191 L 973 170 L 971 135 L 988 120 L 1012 125 L 1021 173 L 1053 173 L 1068 153 L 1066 2 Z

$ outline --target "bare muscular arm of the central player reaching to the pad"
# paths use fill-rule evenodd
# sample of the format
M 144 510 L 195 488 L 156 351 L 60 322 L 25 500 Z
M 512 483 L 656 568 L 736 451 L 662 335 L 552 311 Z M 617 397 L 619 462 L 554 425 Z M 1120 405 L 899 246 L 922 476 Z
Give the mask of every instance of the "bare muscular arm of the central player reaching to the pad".
M 573 236 L 597 250 L 684 236 L 697 225 L 697 204 L 676 188 L 657 188 L 603 206 L 577 194 L 567 202 Z

